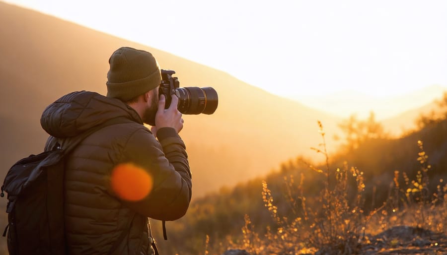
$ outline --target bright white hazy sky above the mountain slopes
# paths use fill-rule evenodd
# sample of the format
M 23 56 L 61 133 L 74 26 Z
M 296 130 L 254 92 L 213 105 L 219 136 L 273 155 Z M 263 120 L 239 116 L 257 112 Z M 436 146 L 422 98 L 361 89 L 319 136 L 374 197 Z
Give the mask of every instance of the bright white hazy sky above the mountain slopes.
M 445 0 L 6 0 L 274 94 L 447 87 Z M 168 68 L 168 67 L 165 67 Z

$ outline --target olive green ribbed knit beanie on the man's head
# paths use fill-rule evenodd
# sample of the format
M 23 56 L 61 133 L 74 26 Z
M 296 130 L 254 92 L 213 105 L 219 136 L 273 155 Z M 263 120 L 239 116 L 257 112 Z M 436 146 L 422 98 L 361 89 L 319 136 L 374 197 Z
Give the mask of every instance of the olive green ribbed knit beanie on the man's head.
M 129 101 L 161 83 L 155 58 L 147 51 L 121 47 L 109 59 L 107 97 Z

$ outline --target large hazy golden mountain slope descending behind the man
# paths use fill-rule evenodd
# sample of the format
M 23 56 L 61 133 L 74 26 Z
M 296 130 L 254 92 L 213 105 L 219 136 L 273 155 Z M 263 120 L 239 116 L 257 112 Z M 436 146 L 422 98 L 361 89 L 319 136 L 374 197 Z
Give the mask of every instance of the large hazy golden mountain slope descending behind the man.
M 19 158 L 43 149 L 45 107 L 78 90 L 106 94 L 110 55 L 121 46 L 151 52 L 184 86 L 212 86 L 219 94 L 213 115 L 184 115 L 184 139 L 193 173 L 193 197 L 264 175 L 279 162 L 328 145 L 340 119 L 267 93 L 228 73 L 172 54 L 0 2 L 1 175 Z M 176 38 L 181 43 L 182 38 Z M 253 75 L 262 75 L 263 70 Z M 317 158 L 318 159 L 318 158 Z

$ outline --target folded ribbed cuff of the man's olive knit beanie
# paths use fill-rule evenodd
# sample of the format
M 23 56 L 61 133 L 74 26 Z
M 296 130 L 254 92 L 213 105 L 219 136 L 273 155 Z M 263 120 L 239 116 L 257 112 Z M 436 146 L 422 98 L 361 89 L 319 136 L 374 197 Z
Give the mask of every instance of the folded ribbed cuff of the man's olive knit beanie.
M 139 80 L 122 83 L 106 82 L 107 97 L 118 98 L 126 102 L 156 88 L 160 83 L 161 74 L 159 70 Z

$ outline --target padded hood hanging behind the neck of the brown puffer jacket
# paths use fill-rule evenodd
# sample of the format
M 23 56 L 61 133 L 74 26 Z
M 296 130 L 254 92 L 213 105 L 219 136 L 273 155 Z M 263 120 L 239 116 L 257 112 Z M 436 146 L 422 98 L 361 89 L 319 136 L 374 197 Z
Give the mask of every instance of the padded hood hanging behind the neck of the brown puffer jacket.
M 119 99 L 96 92 L 76 91 L 50 104 L 40 119 L 42 128 L 58 138 L 76 136 L 114 118 L 143 124 L 138 113 Z

